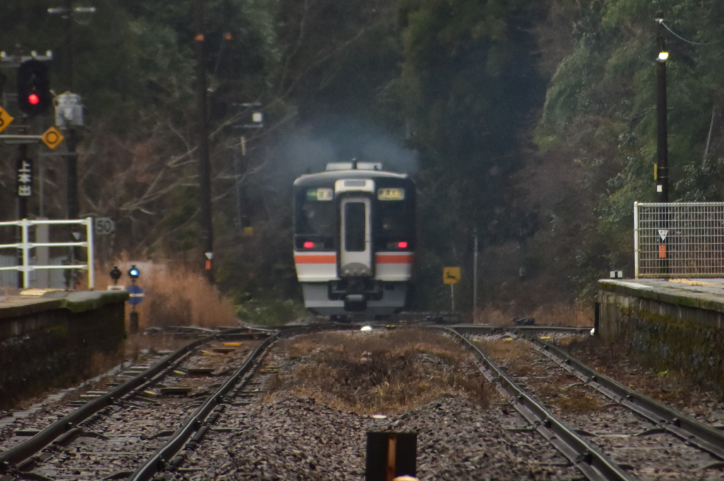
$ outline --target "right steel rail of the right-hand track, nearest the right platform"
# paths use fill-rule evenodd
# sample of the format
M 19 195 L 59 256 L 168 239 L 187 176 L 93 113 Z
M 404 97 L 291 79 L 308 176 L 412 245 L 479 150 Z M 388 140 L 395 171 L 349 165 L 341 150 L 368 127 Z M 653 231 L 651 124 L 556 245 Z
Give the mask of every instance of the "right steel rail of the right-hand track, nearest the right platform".
M 707 451 L 712 456 L 724 460 L 724 433 L 719 430 L 679 412 L 671 406 L 656 401 L 642 393 L 623 386 L 618 381 L 599 373 L 592 367 L 585 365 L 575 357 L 560 349 L 558 346 L 547 343 L 536 336 L 522 336 L 531 341 L 542 354 L 557 362 L 565 370 L 576 375 L 586 385 L 596 389 L 604 396 L 612 399 L 628 409 L 646 417 L 660 430 L 691 443 Z

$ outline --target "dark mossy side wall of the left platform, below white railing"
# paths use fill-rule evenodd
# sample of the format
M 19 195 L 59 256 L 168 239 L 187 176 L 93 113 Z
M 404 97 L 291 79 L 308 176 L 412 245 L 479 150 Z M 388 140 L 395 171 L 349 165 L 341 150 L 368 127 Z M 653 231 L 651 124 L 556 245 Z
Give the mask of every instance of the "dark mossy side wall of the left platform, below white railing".
M 0 407 L 122 358 L 127 294 L 62 294 L 0 304 Z

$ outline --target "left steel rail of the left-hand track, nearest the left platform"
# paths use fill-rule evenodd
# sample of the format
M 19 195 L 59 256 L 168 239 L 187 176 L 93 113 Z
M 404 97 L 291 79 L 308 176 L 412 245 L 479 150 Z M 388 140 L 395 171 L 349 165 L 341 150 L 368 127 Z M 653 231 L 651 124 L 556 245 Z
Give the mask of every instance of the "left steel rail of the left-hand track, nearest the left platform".
M 113 388 L 108 393 L 83 404 L 80 408 L 70 414 L 67 414 L 49 425 L 49 427 L 46 427 L 37 434 L 33 435 L 32 438 L 23 441 L 17 446 L 9 448 L 7 451 L 1 452 L 0 472 L 6 472 L 7 470 L 12 469 L 12 467 L 20 461 L 24 461 L 25 459 L 37 454 L 43 448 L 56 440 L 56 438 L 59 438 L 59 436 L 74 428 L 75 425 L 80 424 L 80 422 L 83 422 L 88 417 L 96 414 L 96 412 L 104 409 L 104 407 L 114 404 L 118 399 L 127 395 L 127 393 L 130 393 L 135 388 L 143 386 L 144 383 L 148 382 L 148 380 L 152 379 L 167 367 L 174 364 L 174 362 L 177 362 L 185 356 L 185 354 L 190 353 L 193 349 L 205 342 L 208 342 L 214 337 L 216 337 L 216 335 L 205 336 L 201 339 L 190 342 L 186 346 L 178 349 L 176 352 L 169 354 L 167 357 L 162 359 L 161 362 L 148 368 L 148 370 L 145 370 L 143 373 L 135 375 L 133 378 L 130 378 L 130 380 L 127 380 L 125 383 Z

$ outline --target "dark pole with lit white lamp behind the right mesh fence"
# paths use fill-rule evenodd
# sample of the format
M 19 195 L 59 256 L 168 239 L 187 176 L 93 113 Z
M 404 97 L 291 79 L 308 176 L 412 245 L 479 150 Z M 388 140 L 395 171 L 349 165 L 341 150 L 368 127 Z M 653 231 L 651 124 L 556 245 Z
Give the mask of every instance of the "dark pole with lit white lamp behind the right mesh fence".
M 658 50 L 656 59 L 656 201 L 666 203 L 669 201 L 668 132 L 666 129 L 666 60 L 669 58 L 669 54 L 666 51 L 663 12 L 657 12 L 655 20 Z

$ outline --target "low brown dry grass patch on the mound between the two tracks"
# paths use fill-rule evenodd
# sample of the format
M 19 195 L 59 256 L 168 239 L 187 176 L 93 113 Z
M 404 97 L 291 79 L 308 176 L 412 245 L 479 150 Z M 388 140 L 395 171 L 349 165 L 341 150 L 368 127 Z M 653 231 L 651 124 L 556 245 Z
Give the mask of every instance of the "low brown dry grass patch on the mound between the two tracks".
M 466 393 L 487 407 L 487 382 L 454 341 L 418 329 L 322 333 L 287 341 L 300 363 L 274 387 L 358 414 L 399 414 Z M 470 373 L 466 373 L 468 368 Z M 271 391 L 270 391 L 271 392 Z

